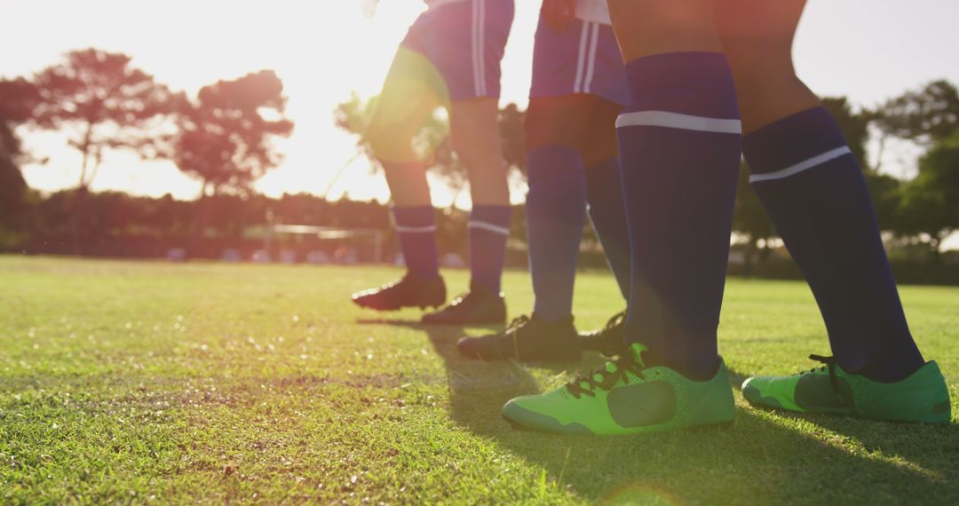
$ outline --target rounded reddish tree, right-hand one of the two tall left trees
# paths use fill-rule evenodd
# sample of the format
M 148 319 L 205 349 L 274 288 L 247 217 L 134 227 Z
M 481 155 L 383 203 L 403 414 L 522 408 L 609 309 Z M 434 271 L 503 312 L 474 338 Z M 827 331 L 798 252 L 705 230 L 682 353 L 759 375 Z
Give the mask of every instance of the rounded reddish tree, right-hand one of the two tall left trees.
M 172 148 L 176 166 L 202 181 L 201 196 L 248 195 L 283 160 L 273 139 L 292 132 L 285 108 L 283 81 L 271 70 L 204 86 L 182 111 Z

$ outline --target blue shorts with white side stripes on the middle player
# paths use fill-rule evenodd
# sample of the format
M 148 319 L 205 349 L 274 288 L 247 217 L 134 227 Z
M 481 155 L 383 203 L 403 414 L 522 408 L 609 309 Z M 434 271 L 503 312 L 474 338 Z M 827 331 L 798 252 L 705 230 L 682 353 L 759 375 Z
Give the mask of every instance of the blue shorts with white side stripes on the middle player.
M 570 19 L 565 30 L 540 18 L 533 49 L 529 98 L 585 93 L 614 104 L 629 103 L 620 46 L 609 25 Z

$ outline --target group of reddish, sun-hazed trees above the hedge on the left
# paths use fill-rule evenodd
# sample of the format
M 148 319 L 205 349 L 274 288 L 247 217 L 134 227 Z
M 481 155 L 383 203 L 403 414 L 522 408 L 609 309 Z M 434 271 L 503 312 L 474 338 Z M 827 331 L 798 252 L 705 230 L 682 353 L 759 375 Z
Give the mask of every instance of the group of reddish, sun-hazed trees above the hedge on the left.
M 202 183 L 201 223 L 207 199 L 247 196 L 253 183 L 276 168 L 277 137 L 292 133 L 283 82 L 271 70 L 203 86 L 195 97 L 174 91 L 131 63 L 98 49 L 73 51 L 30 77 L 0 81 L 0 241 L 22 241 L 35 230 L 32 203 L 42 196 L 26 188 L 19 166 L 42 163 L 24 152 L 17 132 L 50 130 L 64 135 L 82 155 L 80 177 L 63 207 L 74 252 L 86 239 L 86 200 L 110 150 L 129 150 L 145 160 L 170 160 Z M 42 232 L 42 231 L 39 231 Z

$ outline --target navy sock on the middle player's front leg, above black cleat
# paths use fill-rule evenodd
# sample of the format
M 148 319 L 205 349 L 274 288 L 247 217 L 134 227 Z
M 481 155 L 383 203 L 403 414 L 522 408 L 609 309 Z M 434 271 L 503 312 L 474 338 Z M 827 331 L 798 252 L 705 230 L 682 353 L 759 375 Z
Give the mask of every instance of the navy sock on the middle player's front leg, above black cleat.
M 586 224 L 583 158 L 568 146 L 550 145 L 526 156 L 526 240 L 533 282 L 533 311 L 547 322 L 573 312 L 579 243 Z

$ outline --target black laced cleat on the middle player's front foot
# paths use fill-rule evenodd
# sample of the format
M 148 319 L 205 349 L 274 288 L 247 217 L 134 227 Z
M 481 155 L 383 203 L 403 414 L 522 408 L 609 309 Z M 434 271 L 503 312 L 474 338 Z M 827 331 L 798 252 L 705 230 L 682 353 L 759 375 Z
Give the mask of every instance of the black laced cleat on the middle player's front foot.
M 573 316 L 547 323 L 534 313 L 520 316 L 502 334 L 463 337 L 459 354 L 476 360 L 577 361 L 581 357 Z

